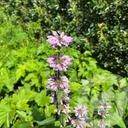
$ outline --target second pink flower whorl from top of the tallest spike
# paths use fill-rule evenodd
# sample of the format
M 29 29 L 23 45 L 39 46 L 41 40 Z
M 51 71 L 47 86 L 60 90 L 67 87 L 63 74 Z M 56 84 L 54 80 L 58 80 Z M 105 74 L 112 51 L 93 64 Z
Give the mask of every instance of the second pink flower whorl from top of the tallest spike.
M 71 58 L 65 55 L 55 55 L 47 59 L 47 62 L 50 64 L 50 67 L 58 71 L 66 71 L 68 65 L 71 64 L 70 61 Z

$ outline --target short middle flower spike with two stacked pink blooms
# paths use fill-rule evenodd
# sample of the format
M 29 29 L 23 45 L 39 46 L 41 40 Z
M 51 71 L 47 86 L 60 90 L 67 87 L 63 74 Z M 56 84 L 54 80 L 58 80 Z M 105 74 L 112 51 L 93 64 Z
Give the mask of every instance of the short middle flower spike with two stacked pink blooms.
M 75 118 L 71 119 L 72 126 L 74 128 L 85 128 L 86 122 L 84 116 L 88 113 L 87 108 L 83 107 L 82 105 L 78 105 L 78 107 L 75 107 L 74 113 Z

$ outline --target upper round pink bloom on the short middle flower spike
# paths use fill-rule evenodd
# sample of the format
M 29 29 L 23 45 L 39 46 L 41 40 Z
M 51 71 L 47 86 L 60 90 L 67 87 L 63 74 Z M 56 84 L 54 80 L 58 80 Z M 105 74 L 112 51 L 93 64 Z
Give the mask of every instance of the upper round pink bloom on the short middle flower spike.
M 75 107 L 74 113 L 75 116 L 78 118 L 81 118 L 87 114 L 88 110 L 86 107 L 83 107 L 82 105 L 78 105 L 78 107 Z

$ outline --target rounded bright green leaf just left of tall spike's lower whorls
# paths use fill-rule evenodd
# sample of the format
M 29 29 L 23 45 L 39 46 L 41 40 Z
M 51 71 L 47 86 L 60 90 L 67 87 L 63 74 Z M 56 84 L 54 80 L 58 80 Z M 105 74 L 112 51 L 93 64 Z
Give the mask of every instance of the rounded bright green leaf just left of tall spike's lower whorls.
M 42 90 L 40 93 L 38 93 L 35 97 L 35 101 L 39 106 L 46 106 L 50 103 L 50 97 L 46 96 L 47 92 L 46 90 Z

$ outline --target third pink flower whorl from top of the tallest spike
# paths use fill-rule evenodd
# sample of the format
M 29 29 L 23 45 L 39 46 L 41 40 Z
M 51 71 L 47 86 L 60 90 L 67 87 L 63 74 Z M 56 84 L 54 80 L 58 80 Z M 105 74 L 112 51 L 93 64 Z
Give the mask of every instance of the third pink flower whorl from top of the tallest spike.
M 56 75 L 50 75 L 47 88 L 56 91 L 58 89 L 68 88 L 68 83 L 69 80 L 66 76 L 59 76 L 59 78 L 57 78 Z

